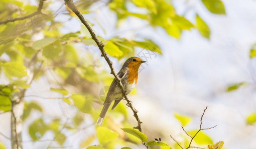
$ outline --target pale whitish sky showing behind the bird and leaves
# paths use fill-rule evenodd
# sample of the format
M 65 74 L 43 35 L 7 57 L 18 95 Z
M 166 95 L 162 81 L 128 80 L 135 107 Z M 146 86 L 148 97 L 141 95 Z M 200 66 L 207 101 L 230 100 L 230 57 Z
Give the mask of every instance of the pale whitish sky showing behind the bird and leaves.
M 256 78 L 256 73 L 254 73 L 256 60 L 249 58 L 250 48 L 256 43 L 256 0 L 222 0 L 227 15 L 210 13 L 200 0 L 188 0 L 189 2 L 184 4 L 185 1 L 187 0 L 173 0 L 177 13 L 183 14 L 187 9 L 185 6 L 192 6 L 193 9 L 186 13 L 186 18 L 195 22 L 195 12 L 197 12 L 211 29 L 210 40 L 201 37 L 195 29 L 184 31 L 181 39 L 177 40 L 167 35 L 163 29 L 153 29 L 147 26 L 145 21 L 137 18 L 128 18 L 117 30 L 115 14 L 107 7 L 100 6 L 103 3 L 91 8 L 92 10 L 99 8 L 96 12 L 84 16 L 95 24 L 93 28 L 97 35 L 106 39 L 113 36 L 128 39 L 145 37 L 152 39 L 160 46 L 163 55 L 147 60 L 148 66 L 145 65 L 145 69 L 139 73 L 137 95 L 129 96 L 134 107 L 139 111 L 138 115 L 143 122 L 142 128 L 152 127 L 162 131 L 166 137 L 169 135 L 177 137 L 183 132 L 180 124 L 173 118 L 173 113 L 192 117 L 192 122 L 185 127 L 186 130 L 192 130 L 199 127 L 202 112 L 208 106 L 203 119 L 203 127 L 218 125 L 214 129 L 205 131 L 214 143 L 224 141 L 227 149 L 256 149 L 256 126 L 246 125 L 247 115 L 256 111 L 256 86 L 253 80 L 253 77 Z M 51 7 L 55 10 L 63 4 L 62 0 L 54 2 Z M 136 11 L 132 5 L 128 8 Z M 56 19 L 66 22 L 62 29 L 63 33 L 80 30 L 81 23 L 76 18 L 67 21 L 68 18 L 65 15 L 58 15 Z M 104 27 L 106 34 L 95 20 Z M 100 57 L 97 48 L 91 48 L 89 51 Z M 114 61 L 116 71 L 125 61 L 117 65 L 114 58 L 111 60 Z M 108 70 L 106 62 L 103 59 L 101 62 Z M 248 82 L 248 85 L 242 86 L 237 91 L 225 92 L 229 84 L 238 82 Z M 42 95 L 47 95 L 45 91 L 49 88 L 49 84 L 45 81 L 38 80 L 33 85 L 34 88 L 40 87 L 41 89 L 31 89 L 27 94 L 39 95 L 41 91 L 44 91 Z M 27 100 L 30 99 L 27 98 Z M 61 113 L 55 108 L 59 104 L 57 101 L 54 104 L 52 101 L 43 100 L 40 104 L 55 109 L 46 111 L 46 116 Z M 72 109 L 69 110 L 72 111 Z M 32 117 L 36 118 L 37 114 L 33 113 Z M 0 117 L 9 119 L 8 114 L 0 115 Z M 24 125 L 31 122 L 26 122 Z M 8 134 L 8 129 L 2 129 L 8 128 L 8 125 L 8 123 L 1 123 L 0 132 Z M 27 132 L 27 130 L 24 131 Z M 93 132 L 87 130 L 87 133 Z M 22 135 L 24 140 L 30 140 L 28 134 Z M 48 133 L 45 136 L 43 139 L 47 139 L 47 136 L 51 138 L 52 134 Z M 77 149 L 80 140 L 74 139 L 81 136 L 84 134 L 71 136 L 65 145 L 71 143 L 73 144 L 71 149 Z M 173 143 L 171 138 L 169 141 Z M 0 142 L 6 143 L 7 141 L 0 136 Z M 8 149 L 10 146 L 5 143 Z M 42 144 L 45 143 L 26 143 L 24 147 L 29 149 L 33 145 L 30 149 L 44 149 L 41 147 Z

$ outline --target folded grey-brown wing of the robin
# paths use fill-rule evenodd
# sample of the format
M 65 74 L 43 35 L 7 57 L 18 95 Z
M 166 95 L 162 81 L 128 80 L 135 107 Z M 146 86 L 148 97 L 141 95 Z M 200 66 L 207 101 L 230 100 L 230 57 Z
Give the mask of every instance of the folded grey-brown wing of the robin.
M 123 80 L 123 79 L 125 79 L 127 73 L 128 73 L 128 69 L 124 68 L 119 71 L 118 76 L 121 78 L 121 80 Z M 123 81 L 121 81 L 121 82 L 123 82 Z M 109 103 L 109 102 L 112 102 L 113 100 L 115 100 L 113 98 L 110 98 L 110 96 L 113 96 L 113 95 L 115 96 L 115 94 L 120 93 L 121 90 L 119 92 L 117 92 L 116 87 L 119 87 L 119 86 L 118 86 L 117 79 L 114 78 L 114 80 L 112 81 L 112 83 L 110 85 L 110 88 L 109 88 L 109 91 L 108 91 L 108 94 L 106 96 L 104 103 L 106 103 L 106 102 Z M 122 96 L 120 98 L 122 98 Z

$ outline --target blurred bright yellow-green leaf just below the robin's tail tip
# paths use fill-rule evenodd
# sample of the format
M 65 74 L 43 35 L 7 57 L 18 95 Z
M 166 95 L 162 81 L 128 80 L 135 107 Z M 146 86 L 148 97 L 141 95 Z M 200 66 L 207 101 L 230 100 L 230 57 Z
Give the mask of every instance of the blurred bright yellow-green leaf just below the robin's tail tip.
M 103 146 L 118 138 L 118 133 L 113 132 L 106 127 L 98 127 L 96 129 L 96 135 L 100 145 L 103 145 Z

